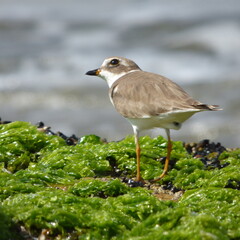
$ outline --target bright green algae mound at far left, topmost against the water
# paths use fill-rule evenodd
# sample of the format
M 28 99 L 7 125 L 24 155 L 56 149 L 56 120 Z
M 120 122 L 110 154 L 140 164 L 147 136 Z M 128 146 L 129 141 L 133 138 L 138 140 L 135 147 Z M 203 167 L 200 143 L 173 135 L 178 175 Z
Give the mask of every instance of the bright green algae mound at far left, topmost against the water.
M 37 161 L 40 150 L 49 151 L 64 144 L 61 138 L 47 136 L 26 122 L 0 125 L 0 132 L 0 162 L 11 172 Z

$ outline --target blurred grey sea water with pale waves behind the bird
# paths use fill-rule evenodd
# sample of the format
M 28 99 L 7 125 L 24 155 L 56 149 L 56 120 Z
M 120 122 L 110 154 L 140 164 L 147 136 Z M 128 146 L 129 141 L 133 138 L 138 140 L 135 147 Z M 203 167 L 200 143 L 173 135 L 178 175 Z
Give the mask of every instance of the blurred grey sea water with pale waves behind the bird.
M 0 0 L 0 117 L 121 140 L 130 124 L 85 75 L 115 55 L 224 109 L 196 114 L 173 140 L 240 146 L 238 0 Z

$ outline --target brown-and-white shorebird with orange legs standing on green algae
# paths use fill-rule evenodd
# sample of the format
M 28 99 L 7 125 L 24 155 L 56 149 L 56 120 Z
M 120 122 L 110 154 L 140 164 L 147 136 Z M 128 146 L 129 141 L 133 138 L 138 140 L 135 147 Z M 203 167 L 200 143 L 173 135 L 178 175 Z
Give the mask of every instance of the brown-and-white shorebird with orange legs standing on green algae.
M 100 68 L 90 70 L 86 75 L 99 76 L 107 82 L 110 101 L 133 127 L 136 181 L 143 181 L 140 172 L 140 131 L 152 128 L 163 128 L 166 131 L 168 143 L 164 169 L 158 178 L 152 180 L 158 181 L 168 171 L 172 151 L 170 129 L 180 129 L 182 123 L 197 112 L 221 110 L 218 105 L 208 105 L 193 99 L 178 84 L 164 76 L 142 71 L 127 58 L 107 58 Z

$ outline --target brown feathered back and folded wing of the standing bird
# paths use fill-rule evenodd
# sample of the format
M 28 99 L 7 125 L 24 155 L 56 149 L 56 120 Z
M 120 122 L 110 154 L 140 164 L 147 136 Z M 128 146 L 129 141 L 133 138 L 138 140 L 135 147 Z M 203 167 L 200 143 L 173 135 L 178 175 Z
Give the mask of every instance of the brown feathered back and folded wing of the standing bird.
M 194 100 L 171 80 L 144 71 L 119 78 L 109 89 L 109 95 L 117 111 L 127 118 L 147 118 L 178 110 L 213 110 L 211 105 Z

